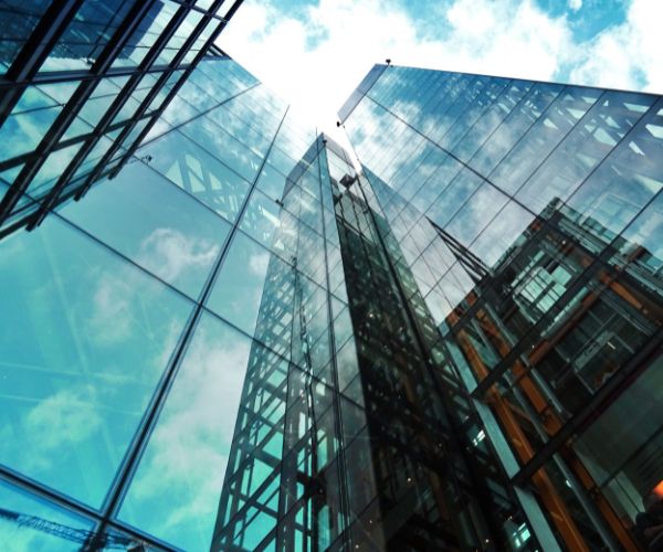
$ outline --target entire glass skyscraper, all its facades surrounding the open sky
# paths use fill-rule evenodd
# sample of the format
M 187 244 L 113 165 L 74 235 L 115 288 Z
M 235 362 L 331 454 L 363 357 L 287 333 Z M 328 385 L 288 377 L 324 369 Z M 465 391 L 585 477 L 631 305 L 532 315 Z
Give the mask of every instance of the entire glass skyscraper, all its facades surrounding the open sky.
M 239 3 L 1 8 L 2 549 L 645 549 L 663 99 L 378 65 L 349 155 Z

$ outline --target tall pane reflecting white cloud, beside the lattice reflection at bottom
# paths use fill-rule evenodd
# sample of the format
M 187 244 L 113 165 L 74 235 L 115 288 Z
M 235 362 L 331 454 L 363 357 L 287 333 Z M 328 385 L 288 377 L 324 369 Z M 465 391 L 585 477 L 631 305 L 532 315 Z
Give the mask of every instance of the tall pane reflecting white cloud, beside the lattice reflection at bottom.
M 206 550 L 219 509 L 250 339 L 203 314 L 119 518 L 185 550 Z

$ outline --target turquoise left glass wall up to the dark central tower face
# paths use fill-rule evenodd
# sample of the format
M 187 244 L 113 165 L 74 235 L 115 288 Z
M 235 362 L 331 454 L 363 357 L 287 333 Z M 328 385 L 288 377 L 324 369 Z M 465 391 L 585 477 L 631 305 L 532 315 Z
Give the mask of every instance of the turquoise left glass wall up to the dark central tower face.
M 332 185 L 323 139 L 210 60 L 115 178 L 0 241 L 1 542 L 347 541 L 365 422 Z

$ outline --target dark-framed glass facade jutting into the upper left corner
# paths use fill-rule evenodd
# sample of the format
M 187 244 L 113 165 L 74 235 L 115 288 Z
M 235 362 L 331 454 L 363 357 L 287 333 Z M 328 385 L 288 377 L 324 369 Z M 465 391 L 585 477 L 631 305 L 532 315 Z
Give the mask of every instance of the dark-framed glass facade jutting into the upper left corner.
M 124 162 L 240 3 L 3 2 L 0 232 Z

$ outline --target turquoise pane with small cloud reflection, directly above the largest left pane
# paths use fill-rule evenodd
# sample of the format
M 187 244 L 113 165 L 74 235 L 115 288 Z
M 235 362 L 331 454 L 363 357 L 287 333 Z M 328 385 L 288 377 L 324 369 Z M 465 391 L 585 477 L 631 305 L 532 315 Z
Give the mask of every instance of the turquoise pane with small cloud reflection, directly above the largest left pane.
M 158 205 L 155 204 L 158 201 Z M 197 297 L 230 225 L 143 163 L 70 203 L 63 216 Z

